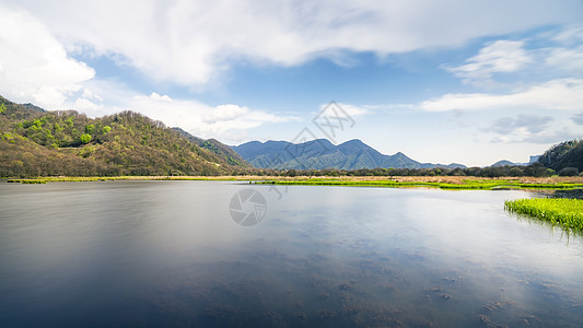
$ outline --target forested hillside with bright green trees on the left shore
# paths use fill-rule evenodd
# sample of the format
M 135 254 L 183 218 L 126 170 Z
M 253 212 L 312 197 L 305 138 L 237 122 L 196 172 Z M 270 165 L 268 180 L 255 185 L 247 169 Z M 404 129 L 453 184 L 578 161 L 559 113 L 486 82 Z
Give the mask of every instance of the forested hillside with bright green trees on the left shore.
M 89 118 L 0 97 L 0 176 L 223 175 L 244 171 L 162 122 L 123 112 Z

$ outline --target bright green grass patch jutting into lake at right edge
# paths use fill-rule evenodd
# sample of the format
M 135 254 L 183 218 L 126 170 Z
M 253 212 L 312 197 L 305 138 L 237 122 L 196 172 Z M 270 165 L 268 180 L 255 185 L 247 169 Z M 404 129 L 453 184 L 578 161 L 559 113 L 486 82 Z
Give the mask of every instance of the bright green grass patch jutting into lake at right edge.
M 506 200 L 509 211 L 526 214 L 559 225 L 567 231 L 583 232 L 583 200 L 562 198 L 533 198 Z

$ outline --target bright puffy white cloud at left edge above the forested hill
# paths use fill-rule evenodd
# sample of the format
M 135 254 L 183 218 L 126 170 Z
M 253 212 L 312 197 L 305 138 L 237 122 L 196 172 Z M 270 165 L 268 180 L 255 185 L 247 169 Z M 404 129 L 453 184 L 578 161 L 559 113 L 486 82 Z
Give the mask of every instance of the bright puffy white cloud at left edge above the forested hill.
M 0 94 L 49 109 L 80 91 L 95 75 L 84 62 L 67 56 L 62 45 L 34 16 L 0 3 Z

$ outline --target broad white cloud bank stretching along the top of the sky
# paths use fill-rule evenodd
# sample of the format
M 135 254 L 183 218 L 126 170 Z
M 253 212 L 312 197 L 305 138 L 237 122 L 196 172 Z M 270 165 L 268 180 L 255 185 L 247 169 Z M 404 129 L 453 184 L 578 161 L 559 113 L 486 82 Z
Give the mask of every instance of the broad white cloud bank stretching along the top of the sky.
M 151 78 L 206 83 L 246 60 L 295 66 L 342 51 L 380 56 L 580 21 L 583 4 L 517 1 L 21 0 L 68 49 L 110 56 Z M 495 22 L 495 23 L 492 23 Z

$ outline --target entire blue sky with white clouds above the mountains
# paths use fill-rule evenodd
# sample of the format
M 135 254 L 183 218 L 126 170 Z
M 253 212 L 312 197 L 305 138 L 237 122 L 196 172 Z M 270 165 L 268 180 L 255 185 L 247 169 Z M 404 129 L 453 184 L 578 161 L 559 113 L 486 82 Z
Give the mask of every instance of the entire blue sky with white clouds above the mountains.
M 119 2 L 0 0 L 0 94 L 229 144 L 325 138 L 335 101 L 333 142 L 433 163 L 583 137 L 582 1 Z

